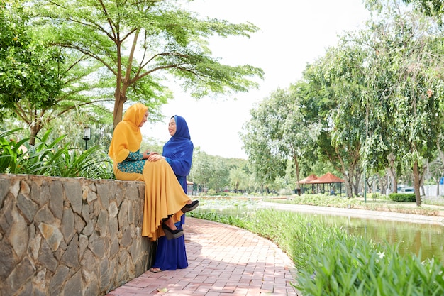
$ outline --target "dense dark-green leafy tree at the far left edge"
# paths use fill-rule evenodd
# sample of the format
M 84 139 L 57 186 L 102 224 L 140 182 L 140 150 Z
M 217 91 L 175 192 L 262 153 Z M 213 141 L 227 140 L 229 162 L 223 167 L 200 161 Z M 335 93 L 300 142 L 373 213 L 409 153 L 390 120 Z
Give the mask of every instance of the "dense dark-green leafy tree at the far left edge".
M 47 48 L 33 39 L 26 26 L 27 16 L 15 1 L 0 2 L 0 117 L 5 110 L 14 116 L 28 116 L 30 144 L 40 131 L 35 112 L 23 114 L 21 106 L 50 108 L 62 89 L 60 63 L 63 57 L 56 48 Z

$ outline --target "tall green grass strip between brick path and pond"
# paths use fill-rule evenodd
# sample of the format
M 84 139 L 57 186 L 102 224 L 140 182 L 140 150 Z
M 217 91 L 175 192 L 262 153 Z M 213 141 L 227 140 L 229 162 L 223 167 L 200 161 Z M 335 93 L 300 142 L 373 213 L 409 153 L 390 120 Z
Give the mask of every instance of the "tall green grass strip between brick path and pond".
M 296 288 L 304 296 L 444 295 L 443 265 L 401 256 L 397 246 L 347 234 L 294 212 L 260 209 L 246 216 L 191 212 L 192 216 L 231 224 L 274 241 L 293 259 Z

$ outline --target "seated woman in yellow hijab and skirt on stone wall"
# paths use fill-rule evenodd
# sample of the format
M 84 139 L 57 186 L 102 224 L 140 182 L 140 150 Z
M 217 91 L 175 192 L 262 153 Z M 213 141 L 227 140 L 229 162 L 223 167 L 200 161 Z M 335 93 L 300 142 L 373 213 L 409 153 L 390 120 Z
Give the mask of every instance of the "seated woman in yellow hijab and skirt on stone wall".
M 174 223 L 185 212 L 196 209 L 199 201 L 192 202 L 184 193 L 166 160 L 147 161 L 152 153 L 140 153 L 140 127 L 147 118 L 147 106 L 136 103 L 129 107 L 114 129 L 108 155 L 113 160 L 116 179 L 145 182 L 142 235 L 151 241 L 164 234 L 173 239 L 183 235 Z

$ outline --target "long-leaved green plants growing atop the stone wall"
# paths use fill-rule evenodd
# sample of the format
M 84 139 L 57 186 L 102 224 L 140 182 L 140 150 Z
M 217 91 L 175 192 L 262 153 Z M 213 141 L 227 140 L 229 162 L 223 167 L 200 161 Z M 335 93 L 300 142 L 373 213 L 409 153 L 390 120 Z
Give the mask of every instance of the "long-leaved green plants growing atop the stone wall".
M 0 173 L 91 179 L 113 176 L 111 160 L 100 146 L 84 151 L 62 146 L 63 136 L 50 141 L 51 131 L 30 146 L 29 138 L 16 140 L 19 131 L 20 128 L 0 133 Z

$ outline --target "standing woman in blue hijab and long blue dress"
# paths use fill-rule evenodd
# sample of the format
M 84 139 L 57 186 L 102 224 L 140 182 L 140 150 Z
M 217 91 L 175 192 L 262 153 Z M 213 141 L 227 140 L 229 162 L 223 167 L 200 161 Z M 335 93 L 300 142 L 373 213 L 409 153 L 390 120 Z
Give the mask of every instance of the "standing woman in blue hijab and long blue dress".
M 168 124 L 168 131 L 171 138 L 163 146 L 162 156 L 170 163 L 177 180 L 182 185 L 184 192 L 187 193 L 187 175 L 189 175 L 192 167 L 194 149 L 193 142 L 189 136 L 187 121 L 182 116 L 172 116 Z M 176 224 L 177 229 L 182 229 L 184 221 L 185 215 L 182 215 L 181 221 Z M 165 239 L 165 236 L 161 236 L 157 241 L 155 263 L 150 268 L 150 271 L 158 273 L 162 270 L 176 270 L 187 268 L 187 266 L 184 236 L 170 240 Z

